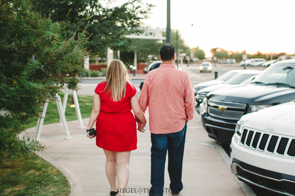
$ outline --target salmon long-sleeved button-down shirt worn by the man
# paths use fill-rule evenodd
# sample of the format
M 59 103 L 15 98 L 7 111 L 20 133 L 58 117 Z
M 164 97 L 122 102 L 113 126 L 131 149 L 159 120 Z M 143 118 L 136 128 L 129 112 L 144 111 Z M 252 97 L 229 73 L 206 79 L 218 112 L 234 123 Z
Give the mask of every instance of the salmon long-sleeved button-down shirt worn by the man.
M 148 106 L 150 131 L 173 133 L 194 117 L 195 96 L 189 75 L 172 64 L 147 73 L 139 96 L 143 112 Z

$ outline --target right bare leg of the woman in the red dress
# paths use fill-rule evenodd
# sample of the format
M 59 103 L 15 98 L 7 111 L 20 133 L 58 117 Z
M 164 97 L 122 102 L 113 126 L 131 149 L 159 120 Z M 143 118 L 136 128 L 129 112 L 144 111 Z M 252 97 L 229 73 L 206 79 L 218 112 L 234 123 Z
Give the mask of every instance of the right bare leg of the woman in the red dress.
M 127 187 L 129 179 L 129 160 L 131 151 L 116 152 L 116 163 L 118 166 L 117 178 L 119 196 L 124 196 L 124 189 Z

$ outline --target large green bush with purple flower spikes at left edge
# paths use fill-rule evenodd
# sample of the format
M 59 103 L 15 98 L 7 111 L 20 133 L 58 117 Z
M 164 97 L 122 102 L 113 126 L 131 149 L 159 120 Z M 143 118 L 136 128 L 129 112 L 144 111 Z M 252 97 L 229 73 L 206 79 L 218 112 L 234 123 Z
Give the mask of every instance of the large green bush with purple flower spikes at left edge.
M 0 110 L 7 113 L 0 116 L 0 157 L 11 157 L 44 148 L 18 138 L 21 123 L 38 116 L 64 84 L 77 88 L 87 37 L 80 32 L 62 39 L 59 23 L 32 12 L 30 0 L 0 3 Z

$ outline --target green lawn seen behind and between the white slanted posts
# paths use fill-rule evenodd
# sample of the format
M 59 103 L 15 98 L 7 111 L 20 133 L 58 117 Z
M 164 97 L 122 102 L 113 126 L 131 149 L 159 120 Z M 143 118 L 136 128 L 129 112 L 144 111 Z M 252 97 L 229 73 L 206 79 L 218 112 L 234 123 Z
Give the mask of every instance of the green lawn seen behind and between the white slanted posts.
M 59 96 L 61 100 L 63 101 L 63 93 L 59 93 Z M 89 118 L 92 111 L 92 107 L 93 107 L 93 96 L 78 95 L 78 102 L 79 102 L 82 119 Z M 68 95 L 68 102 L 67 102 L 67 107 L 65 112 L 67 121 L 78 119 L 76 114 L 76 109 L 71 108 L 70 107 L 71 104 L 72 104 L 72 95 Z M 24 127 L 26 129 L 30 127 L 35 127 L 37 124 L 37 120 L 38 120 L 37 117 L 28 119 L 27 122 L 24 124 Z M 56 101 L 50 100 L 50 103 L 48 104 L 48 108 L 46 111 L 46 116 L 44 118 L 44 125 L 54 123 L 54 122 L 59 122 L 59 112 L 57 110 Z

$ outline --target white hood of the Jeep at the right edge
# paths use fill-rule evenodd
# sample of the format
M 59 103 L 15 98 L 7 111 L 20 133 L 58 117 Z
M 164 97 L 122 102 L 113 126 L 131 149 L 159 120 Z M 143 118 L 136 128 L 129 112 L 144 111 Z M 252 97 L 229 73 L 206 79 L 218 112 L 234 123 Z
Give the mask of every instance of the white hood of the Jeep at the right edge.
M 295 136 L 295 102 L 288 102 L 241 117 L 240 123 L 250 129 Z

